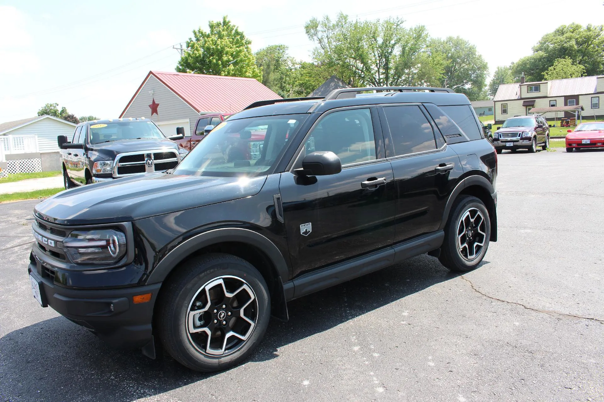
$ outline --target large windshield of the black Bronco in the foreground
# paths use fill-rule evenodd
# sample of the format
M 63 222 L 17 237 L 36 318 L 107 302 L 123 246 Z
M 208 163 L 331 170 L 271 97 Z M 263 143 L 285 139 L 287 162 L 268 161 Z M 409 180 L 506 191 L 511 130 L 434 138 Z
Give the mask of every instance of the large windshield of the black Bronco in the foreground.
M 223 121 L 189 152 L 174 174 L 257 176 L 277 163 L 308 115 Z

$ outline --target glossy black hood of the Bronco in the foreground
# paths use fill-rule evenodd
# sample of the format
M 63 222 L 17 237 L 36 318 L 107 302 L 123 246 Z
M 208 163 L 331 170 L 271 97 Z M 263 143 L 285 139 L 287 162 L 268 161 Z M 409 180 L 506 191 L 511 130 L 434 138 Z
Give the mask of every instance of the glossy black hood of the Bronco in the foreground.
M 266 176 L 140 175 L 65 190 L 37 204 L 34 213 L 63 225 L 127 222 L 252 196 L 265 180 Z

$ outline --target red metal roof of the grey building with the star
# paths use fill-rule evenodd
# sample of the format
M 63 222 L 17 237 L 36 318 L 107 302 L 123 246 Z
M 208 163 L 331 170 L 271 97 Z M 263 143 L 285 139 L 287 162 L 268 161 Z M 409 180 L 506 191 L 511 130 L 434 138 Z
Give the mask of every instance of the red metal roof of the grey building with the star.
M 211 111 L 236 113 L 256 101 L 281 99 L 281 96 L 254 78 L 150 71 L 120 117 L 124 116 L 150 75 L 153 75 L 198 113 Z

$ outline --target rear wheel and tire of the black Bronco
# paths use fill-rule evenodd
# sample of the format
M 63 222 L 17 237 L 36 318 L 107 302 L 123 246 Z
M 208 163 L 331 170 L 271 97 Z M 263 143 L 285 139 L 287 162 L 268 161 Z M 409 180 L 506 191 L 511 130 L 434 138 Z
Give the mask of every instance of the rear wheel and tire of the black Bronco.
M 471 233 L 469 236 L 468 232 Z M 472 271 L 483 260 L 489 239 L 490 219 L 484 203 L 471 195 L 460 196 L 445 226 L 440 263 L 451 271 Z M 477 247 L 478 243 L 482 244 Z

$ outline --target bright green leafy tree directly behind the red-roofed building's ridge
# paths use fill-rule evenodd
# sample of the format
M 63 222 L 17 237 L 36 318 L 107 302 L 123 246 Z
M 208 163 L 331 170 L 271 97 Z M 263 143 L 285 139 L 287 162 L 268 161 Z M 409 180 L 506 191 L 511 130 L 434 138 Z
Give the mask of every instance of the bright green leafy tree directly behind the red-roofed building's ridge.
M 210 21 L 208 25 L 209 32 L 201 27 L 193 31 L 176 71 L 262 80 L 249 47 L 251 40 L 226 16 L 222 21 Z

